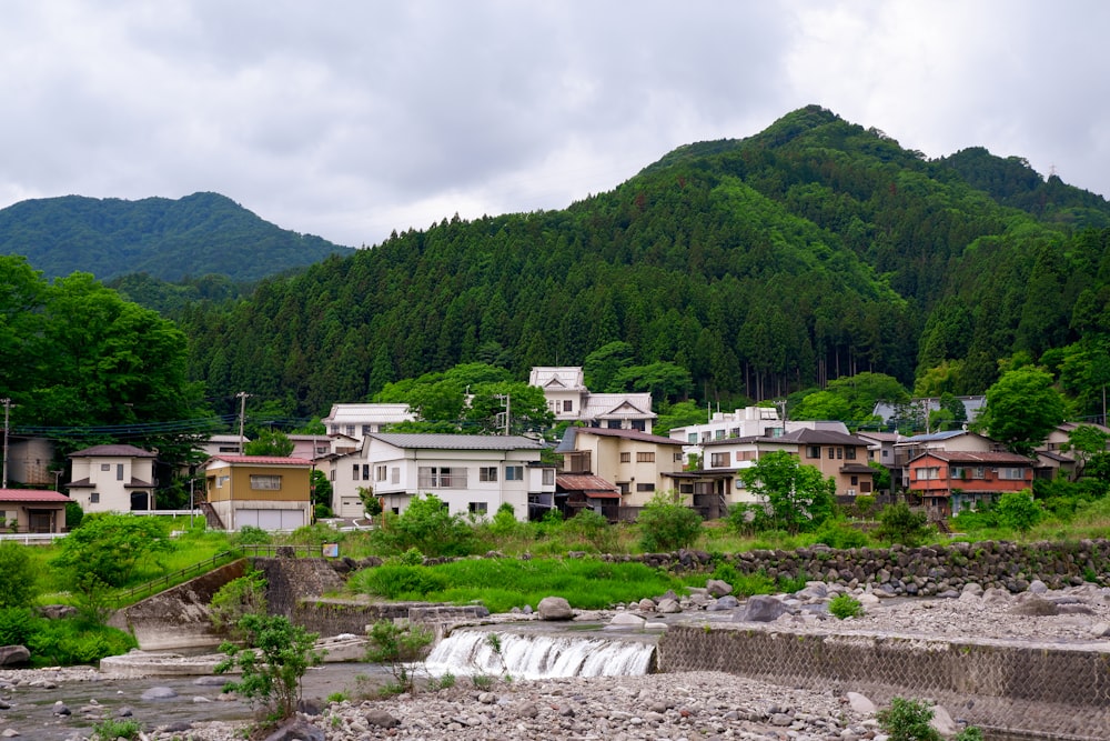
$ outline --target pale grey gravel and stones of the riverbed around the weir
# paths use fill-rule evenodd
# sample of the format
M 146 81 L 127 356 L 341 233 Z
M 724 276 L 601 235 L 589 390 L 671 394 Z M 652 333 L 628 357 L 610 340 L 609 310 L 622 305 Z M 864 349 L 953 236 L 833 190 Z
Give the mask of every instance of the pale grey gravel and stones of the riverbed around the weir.
M 836 620 L 820 605 L 820 588 L 780 595 L 790 612 L 777 619 L 785 630 L 867 632 L 930 638 L 977 638 L 1037 643 L 1104 643 L 1110 637 L 1110 590 L 1083 585 L 1051 591 L 1033 584 L 1028 592 L 1011 595 L 969 585 L 951 599 L 884 599 L 857 590 L 864 602 L 862 617 Z M 743 603 L 741 603 L 743 604 Z M 811 605 L 813 609 L 804 609 Z M 697 620 L 712 614 L 713 602 L 684 599 L 680 619 Z M 629 605 L 626 612 L 635 611 Z M 727 618 L 735 622 L 743 608 Z M 583 615 L 592 621 L 614 613 Z M 648 619 L 660 615 L 646 613 Z M 724 618 L 719 614 L 717 618 Z M 674 619 L 674 615 L 667 615 Z M 724 625 L 725 623 L 720 623 Z M 333 664 L 343 667 L 344 664 Z M 342 671 L 342 670 L 337 670 Z M 356 697 L 355 670 L 345 688 Z M 340 674 L 342 677 L 342 674 Z M 49 691 L 46 685 L 84 682 L 85 693 L 97 700 L 102 677 L 89 669 L 0 671 L 0 738 L 36 735 L 34 728 L 20 728 L 7 715 L 18 709 L 26 692 Z M 159 678 L 150 678 L 157 687 Z M 334 691 L 334 680 L 325 694 Z M 44 689 L 46 687 L 46 689 Z M 364 689 L 364 688 L 363 688 Z M 306 697 L 311 697 L 306 692 Z M 178 702 L 192 702 L 182 697 Z M 173 700 L 167 700 L 173 702 Z M 103 703 L 103 699 L 101 699 Z M 866 698 L 784 688 L 744 678 L 714 673 L 666 673 L 642 677 L 596 677 L 496 681 L 478 687 L 460 677 L 455 685 L 437 692 L 420 692 L 386 700 L 319 702 L 320 712 L 301 718 L 303 732 L 284 739 L 356 741 L 362 739 L 424 739 L 467 741 L 496 739 L 557 739 L 623 741 L 633 739 L 739 739 L 751 741 L 860 741 L 884 738 Z M 103 703 L 107 708 L 108 703 Z M 93 709 L 95 709 L 95 704 Z M 79 709 L 70 709 L 77 713 Z M 88 707 L 83 709 L 88 711 Z M 114 712 L 111 711 L 111 712 Z M 94 712 L 93 712 L 94 714 Z M 105 712 L 104 715 L 108 715 Z M 248 720 L 202 720 L 167 727 L 158 713 L 135 713 L 144 738 L 151 741 L 232 741 L 243 738 Z M 64 723 L 62 723 L 64 727 Z M 85 728 L 52 738 L 85 739 Z

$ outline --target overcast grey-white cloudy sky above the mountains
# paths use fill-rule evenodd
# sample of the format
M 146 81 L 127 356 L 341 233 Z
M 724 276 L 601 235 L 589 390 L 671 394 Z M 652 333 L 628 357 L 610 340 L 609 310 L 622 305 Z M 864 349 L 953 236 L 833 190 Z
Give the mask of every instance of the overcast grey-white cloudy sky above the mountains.
M 8 0 L 0 207 L 215 191 L 376 244 L 818 103 L 1110 196 L 1103 0 Z

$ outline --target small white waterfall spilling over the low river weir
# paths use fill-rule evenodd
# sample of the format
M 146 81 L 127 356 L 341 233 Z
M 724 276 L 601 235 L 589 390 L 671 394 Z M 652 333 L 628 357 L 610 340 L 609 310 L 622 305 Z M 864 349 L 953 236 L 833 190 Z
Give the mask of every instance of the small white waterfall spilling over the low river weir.
M 490 635 L 497 635 L 501 655 Z M 425 662 L 433 674 L 507 673 L 517 679 L 646 674 L 655 644 L 589 635 L 456 630 L 440 641 Z

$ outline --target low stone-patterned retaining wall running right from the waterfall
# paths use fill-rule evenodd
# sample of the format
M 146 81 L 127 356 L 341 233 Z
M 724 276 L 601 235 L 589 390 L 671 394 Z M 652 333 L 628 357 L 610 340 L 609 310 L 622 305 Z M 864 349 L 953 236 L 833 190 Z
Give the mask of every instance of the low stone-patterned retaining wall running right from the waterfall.
M 660 672 L 723 671 L 788 687 L 928 699 L 956 719 L 1043 739 L 1106 739 L 1110 645 L 948 641 L 673 627 Z

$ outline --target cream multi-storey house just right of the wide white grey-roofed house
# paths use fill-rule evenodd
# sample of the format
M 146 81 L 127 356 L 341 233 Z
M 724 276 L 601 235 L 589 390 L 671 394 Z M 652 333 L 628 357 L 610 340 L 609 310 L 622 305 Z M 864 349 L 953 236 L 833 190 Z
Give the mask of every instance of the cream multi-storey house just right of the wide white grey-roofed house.
M 563 473 L 599 477 L 620 492 L 620 505 L 642 508 L 657 491 L 674 487 L 683 470 L 683 443 L 637 430 L 571 427 L 555 449 Z

